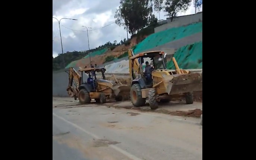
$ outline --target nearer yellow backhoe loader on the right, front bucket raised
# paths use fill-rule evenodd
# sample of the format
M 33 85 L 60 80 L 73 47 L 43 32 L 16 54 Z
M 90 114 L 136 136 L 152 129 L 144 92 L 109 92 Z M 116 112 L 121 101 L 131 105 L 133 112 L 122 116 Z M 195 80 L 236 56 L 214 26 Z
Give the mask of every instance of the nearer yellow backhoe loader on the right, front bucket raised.
M 146 99 L 151 109 L 158 108 L 158 102 L 169 102 L 171 97 L 184 95 L 187 104 L 193 103 L 193 91 L 202 90 L 202 72 L 190 73 L 181 70 L 173 57 L 175 71 L 166 69 L 166 53 L 150 51 L 133 54 L 128 50 L 131 77 L 130 97 L 135 107 L 144 106 Z M 142 64 L 147 64 L 143 70 Z M 149 62 L 151 61 L 151 62 Z M 146 68 L 145 67 L 145 68 Z

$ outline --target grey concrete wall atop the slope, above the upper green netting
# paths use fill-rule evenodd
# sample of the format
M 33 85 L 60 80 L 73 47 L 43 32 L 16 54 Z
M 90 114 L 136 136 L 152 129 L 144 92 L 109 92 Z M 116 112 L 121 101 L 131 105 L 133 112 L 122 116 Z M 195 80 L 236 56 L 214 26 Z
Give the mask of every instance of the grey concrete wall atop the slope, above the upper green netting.
M 179 17 L 174 17 L 173 21 L 171 22 L 170 18 L 167 18 L 167 24 L 164 24 L 159 27 L 155 27 L 155 33 L 163 30 L 167 30 L 173 27 L 181 27 L 184 25 L 188 25 L 191 23 L 203 21 L 203 13 L 197 13 L 197 14 L 190 14 L 186 16 L 179 16 Z

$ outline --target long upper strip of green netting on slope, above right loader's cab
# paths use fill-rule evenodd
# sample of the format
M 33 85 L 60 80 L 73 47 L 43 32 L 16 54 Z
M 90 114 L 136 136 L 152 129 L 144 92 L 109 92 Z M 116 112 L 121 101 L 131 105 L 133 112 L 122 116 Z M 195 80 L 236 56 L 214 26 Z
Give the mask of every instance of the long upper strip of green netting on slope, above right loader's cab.
M 194 23 L 188 26 L 171 28 L 168 30 L 160 31 L 154 34 L 149 35 L 142 42 L 136 45 L 136 48 L 133 50 L 135 54 L 143 52 L 145 50 L 161 46 L 165 43 L 178 40 L 187 36 L 190 36 L 195 33 L 203 31 L 203 23 Z

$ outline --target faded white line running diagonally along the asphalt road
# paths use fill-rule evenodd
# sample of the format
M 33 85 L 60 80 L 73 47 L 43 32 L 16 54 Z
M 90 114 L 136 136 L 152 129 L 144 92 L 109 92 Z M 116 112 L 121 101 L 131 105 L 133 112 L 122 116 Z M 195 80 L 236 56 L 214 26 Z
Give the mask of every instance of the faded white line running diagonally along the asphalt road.
M 58 115 L 55 114 L 55 113 L 53 113 L 53 116 L 56 116 L 57 118 L 59 118 L 59 119 L 65 121 L 66 123 L 69 123 L 69 124 L 71 124 L 72 126 L 76 127 L 77 129 L 82 130 L 83 132 L 85 132 L 85 133 L 89 134 L 90 136 L 94 137 L 95 139 L 100 139 L 100 138 L 99 138 L 98 136 L 96 136 L 95 134 L 93 134 L 93 133 L 91 133 L 91 132 L 89 132 L 89 131 L 86 131 L 85 129 L 83 129 L 82 127 L 78 126 L 77 124 L 72 123 L 72 122 L 70 122 L 70 121 L 64 119 L 63 117 L 58 116 Z M 111 147 L 111 148 L 113 148 L 114 150 L 116 150 L 116 151 L 118 151 L 118 152 L 124 154 L 125 156 L 129 157 L 130 159 L 133 159 L 133 160 L 142 160 L 142 159 L 139 159 L 138 157 L 134 156 L 133 154 L 130 154 L 130 153 L 128 153 L 127 151 L 122 150 L 122 149 L 120 149 L 120 148 L 117 147 L 117 146 L 114 146 L 113 144 L 109 145 L 109 147 Z

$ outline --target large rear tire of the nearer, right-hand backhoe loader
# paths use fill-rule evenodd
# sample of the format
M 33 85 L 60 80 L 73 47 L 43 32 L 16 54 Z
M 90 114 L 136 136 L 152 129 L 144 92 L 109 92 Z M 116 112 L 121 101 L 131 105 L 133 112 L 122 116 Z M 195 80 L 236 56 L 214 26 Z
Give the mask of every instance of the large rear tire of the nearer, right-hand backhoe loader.
M 132 100 L 133 106 L 141 107 L 141 106 L 145 105 L 146 99 L 142 98 L 141 87 L 139 84 L 132 85 L 130 95 L 131 95 L 131 100 Z

